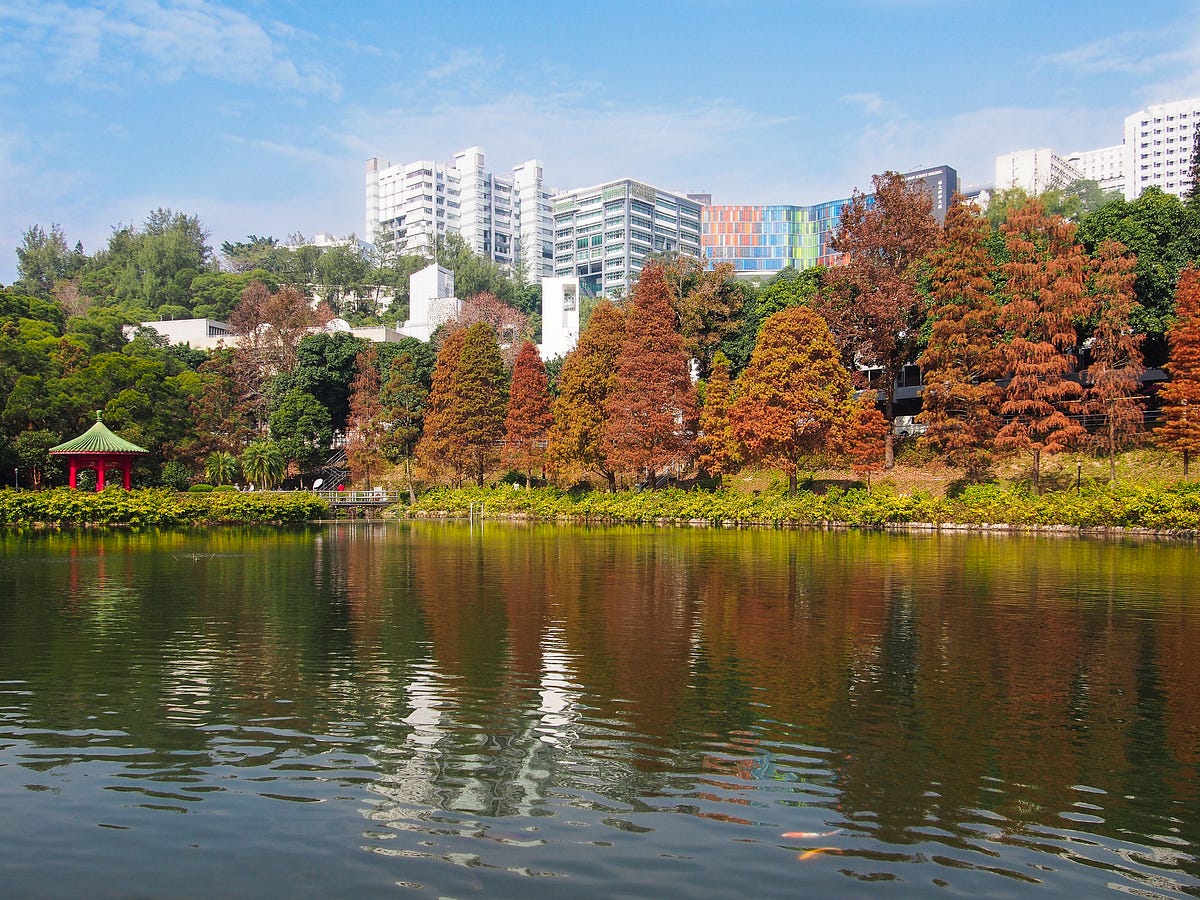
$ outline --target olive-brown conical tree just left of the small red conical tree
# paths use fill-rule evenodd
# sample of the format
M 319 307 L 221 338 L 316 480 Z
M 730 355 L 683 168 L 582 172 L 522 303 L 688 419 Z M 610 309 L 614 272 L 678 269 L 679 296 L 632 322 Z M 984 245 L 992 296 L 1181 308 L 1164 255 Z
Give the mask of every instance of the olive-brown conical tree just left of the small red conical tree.
M 500 460 L 508 388 L 496 331 L 486 322 L 476 322 L 463 337 L 451 419 L 462 436 L 467 472 L 479 486 Z

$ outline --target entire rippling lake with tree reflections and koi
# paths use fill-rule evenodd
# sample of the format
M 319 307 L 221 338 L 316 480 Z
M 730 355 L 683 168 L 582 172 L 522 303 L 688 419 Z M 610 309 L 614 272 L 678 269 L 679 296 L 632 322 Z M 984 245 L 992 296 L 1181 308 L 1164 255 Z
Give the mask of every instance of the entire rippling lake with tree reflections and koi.
M 0 534 L 7 896 L 1200 896 L 1200 552 Z

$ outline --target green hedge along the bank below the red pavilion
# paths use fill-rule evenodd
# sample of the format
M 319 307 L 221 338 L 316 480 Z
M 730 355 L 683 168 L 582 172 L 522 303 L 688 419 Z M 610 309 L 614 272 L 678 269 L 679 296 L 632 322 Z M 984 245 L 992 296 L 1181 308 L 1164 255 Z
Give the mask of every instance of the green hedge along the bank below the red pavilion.
M 0 491 L 0 524 L 194 526 L 306 522 L 329 514 L 329 504 L 294 493 L 176 493 L 167 490 Z

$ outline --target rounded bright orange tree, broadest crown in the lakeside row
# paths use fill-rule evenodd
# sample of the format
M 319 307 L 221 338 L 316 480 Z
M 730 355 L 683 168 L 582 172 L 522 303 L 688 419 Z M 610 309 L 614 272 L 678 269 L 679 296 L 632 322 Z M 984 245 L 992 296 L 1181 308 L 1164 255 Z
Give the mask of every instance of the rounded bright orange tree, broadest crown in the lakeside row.
M 730 422 L 749 458 L 782 469 L 794 493 L 800 463 L 828 446 L 850 396 L 850 372 L 829 326 L 797 306 L 763 323 L 738 379 Z

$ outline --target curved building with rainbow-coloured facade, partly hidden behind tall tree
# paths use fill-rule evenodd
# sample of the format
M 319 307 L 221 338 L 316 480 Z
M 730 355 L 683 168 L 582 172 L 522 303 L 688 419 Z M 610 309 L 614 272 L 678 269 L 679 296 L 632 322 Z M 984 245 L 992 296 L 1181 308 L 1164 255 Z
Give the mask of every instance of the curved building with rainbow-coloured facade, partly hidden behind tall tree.
M 908 182 L 923 181 L 934 199 L 934 216 L 942 221 L 950 197 L 958 191 L 959 173 L 937 166 L 905 174 Z M 871 199 L 868 197 L 868 203 Z M 746 277 L 773 275 L 782 269 L 836 265 L 830 246 L 850 198 L 812 206 L 714 206 L 701 212 L 704 262 L 712 269 L 731 263 Z

